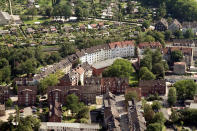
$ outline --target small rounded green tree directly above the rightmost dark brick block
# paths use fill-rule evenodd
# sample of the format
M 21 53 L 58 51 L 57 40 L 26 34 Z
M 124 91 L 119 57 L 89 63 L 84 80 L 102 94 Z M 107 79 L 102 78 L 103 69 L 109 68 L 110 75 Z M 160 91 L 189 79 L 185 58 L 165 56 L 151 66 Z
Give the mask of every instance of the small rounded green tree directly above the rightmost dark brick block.
M 147 67 L 140 68 L 140 79 L 141 80 L 154 80 L 156 77 L 155 75 L 148 70 Z

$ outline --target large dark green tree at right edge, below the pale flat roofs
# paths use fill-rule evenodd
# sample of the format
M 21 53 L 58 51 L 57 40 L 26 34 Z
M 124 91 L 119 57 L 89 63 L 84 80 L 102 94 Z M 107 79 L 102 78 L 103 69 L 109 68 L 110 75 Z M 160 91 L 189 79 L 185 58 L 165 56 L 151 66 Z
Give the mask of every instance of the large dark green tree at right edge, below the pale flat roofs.
M 193 80 L 181 80 L 174 84 L 178 100 L 193 99 L 197 84 Z

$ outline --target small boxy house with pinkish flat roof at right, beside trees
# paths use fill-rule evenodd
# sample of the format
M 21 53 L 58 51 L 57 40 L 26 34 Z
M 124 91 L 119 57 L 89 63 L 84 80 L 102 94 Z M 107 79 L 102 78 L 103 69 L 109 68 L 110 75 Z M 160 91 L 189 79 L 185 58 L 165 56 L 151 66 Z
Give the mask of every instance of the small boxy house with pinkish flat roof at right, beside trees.
M 184 75 L 186 73 L 186 63 L 185 62 L 175 62 L 174 63 L 174 73 L 177 75 Z

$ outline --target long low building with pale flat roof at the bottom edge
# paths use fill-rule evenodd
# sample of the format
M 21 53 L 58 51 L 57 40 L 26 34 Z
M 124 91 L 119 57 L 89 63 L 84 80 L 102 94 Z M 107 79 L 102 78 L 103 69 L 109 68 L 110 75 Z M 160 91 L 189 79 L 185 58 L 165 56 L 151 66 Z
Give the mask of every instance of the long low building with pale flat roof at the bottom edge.
M 99 124 L 41 122 L 39 131 L 99 131 Z

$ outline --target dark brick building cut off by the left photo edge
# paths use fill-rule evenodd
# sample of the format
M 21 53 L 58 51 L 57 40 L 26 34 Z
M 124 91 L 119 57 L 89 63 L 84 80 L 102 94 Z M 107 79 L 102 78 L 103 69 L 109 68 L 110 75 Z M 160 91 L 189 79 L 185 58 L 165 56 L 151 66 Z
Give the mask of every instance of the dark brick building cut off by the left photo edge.
M 4 104 L 9 98 L 9 87 L 0 86 L 0 103 Z

